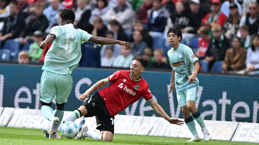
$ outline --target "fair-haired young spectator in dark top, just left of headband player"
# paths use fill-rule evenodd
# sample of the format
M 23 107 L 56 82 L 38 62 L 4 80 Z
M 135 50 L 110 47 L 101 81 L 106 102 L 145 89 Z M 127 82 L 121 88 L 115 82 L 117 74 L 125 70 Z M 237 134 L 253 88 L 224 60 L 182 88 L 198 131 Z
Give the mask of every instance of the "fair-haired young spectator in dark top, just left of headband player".
M 150 65 L 150 68 L 161 68 L 161 69 L 171 68 L 167 58 L 164 56 L 164 51 L 162 49 L 154 50 L 154 57 L 151 58 L 149 65 Z

